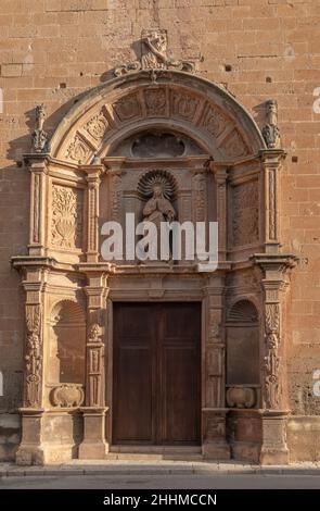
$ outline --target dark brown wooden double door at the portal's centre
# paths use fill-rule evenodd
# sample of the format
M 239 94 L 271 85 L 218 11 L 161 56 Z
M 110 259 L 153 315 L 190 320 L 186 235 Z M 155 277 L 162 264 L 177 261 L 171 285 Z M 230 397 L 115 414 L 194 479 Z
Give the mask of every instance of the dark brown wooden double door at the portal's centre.
M 201 304 L 114 304 L 113 444 L 197 445 Z

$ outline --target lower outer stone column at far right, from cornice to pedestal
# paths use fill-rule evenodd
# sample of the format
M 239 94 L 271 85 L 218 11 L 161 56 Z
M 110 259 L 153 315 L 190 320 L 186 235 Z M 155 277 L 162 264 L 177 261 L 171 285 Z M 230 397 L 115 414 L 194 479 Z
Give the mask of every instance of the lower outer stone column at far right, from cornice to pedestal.
M 254 260 L 264 272 L 264 345 L 263 345 L 263 444 L 260 463 L 289 463 L 286 421 L 289 415 L 286 350 L 282 332 L 282 292 L 287 286 L 285 273 L 296 258 L 285 254 L 260 254 Z

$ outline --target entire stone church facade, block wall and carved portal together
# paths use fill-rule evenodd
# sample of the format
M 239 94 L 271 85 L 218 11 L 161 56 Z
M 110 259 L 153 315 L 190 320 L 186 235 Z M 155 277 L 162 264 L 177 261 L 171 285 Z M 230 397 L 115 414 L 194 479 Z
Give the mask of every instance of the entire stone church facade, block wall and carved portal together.
M 0 16 L 0 459 L 319 460 L 319 2 L 150 3 Z M 217 269 L 105 261 L 127 213 Z

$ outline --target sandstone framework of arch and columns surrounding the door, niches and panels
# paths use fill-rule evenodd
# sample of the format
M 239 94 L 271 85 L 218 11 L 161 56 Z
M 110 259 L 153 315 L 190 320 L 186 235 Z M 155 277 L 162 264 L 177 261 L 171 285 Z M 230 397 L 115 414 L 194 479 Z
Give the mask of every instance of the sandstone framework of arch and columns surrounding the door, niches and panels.
M 203 408 L 203 454 L 214 459 L 230 458 L 227 438 L 227 415 L 236 415 L 233 427 L 234 452 L 243 446 L 243 426 L 247 420 L 259 424 L 257 448 L 249 452 L 247 445 L 242 457 L 263 463 L 286 463 L 289 452 L 285 425 L 289 415 L 285 371 L 285 336 L 283 296 L 287 287 L 287 271 L 296 261 L 292 254 L 280 251 L 279 172 L 285 153 L 278 147 L 267 147 L 253 117 L 225 89 L 184 72 L 152 70 L 132 73 L 102 84 L 86 94 L 66 114 L 55 129 L 50 151 L 25 155 L 25 166 L 31 176 L 30 235 L 27 256 L 15 256 L 12 264 L 23 275 L 25 289 L 26 342 L 22 443 L 16 461 L 21 464 L 41 464 L 68 460 L 74 452 L 52 445 L 46 434 L 48 424 L 59 413 L 79 415 L 84 422 L 84 439 L 77 447 L 81 459 L 104 458 L 105 440 L 105 371 L 103 359 L 110 342 L 104 323 L 110 311 L 113 283 L 121 276 L 135 276 L 99 259 L 99 190 L 100 183 L 110 174 L 115 208 L 117 180 L 124 159 L 108 159 L 114 145 L 132 133 L 170 125 L 193 138 L 206 151 L 200 173 L 208 172 L 216 184 L 217 220 L 219 222 L 219 267 L 215 274 L 204 274 L 197 289 L 205 306 L 205 392 Z M 214 155 L 214 159 L 213 159 Z M 205 164 L 204 164 L 205 163 Z M 229 250 L 227 222 L 227 188 L 236 182 L 230 170 L 247 169 L 258 175 L 259 239 L 253 249 Z M 235 173 L 236 174 L 236 173 Z M 53 185 L 63 196 L 65 186 L 73 187 L 75 208 L 82 211 L 81 242 L 76 233 L 71 246 L 61 249 L 52 242 Z M 62 190 L 62 191 L 61 191 Z M 78 226 L 77 226 L 78 228 Z M 236 256 L 238 253 L 238 256 Z M 194 269 L 175 271 L 195 278 Z M 256 275 L 255 285 L 246 284 L 243 275 Z M 150 299 L 166 296 L 163 267 L 146 269 L 151 285 Z M 171 274 L 170 274 L 171 276 Z M 231 288 L 228 285 L 232 281 Z M 136 277 L 141 272 L 136 271 Z M 145 275 L 143 276 L 145 278 Z M 199 277 L 196 277 L 199 278 Z M 238 281 L 239 282 L 238 282 Z M 238 282 L 238 284 L 236 284 Z M 235 283 L 235 284 L 234 284 Z M 191 289 L 194 292 L 194 289 Z M 79 298 L 79 296 L 81 298 Z M 84 300 L 87 312 L 87 363 L 85 403 L 74 406 L 64 392 L 66 407 L 53 410 L 47 396 L 46 374 L 48 337 L 46 322 L 59 300 Z M 226 298 L 227 297 L 227 298 Z M 225 385 L 225 310 L 232 299 L 253 299 L 258 303 L 261 324 L 261 399 L 259 407 L 230 410 L 226 406 Z M 228 301 L 229 300 L 229 301 Z M 107 312 L 110 317 L 110 312 Z M 281 364 L 280 364 L 281 362 Z M 47 392 L 47 394 L 46 394 Z M 68 403 L 68 399 L 72 403 Z M 85 406 L 84 406 L 85 404 Z M 239 415 L 239 416 L 238 416 Z M 238 425 L 236 425 L 238 424 Z M 240 427 L 240 428 L 239 428 Z M 46 436 L 47 435 L 47 436 Z M 245 443 L 244 443 L 245 444 Z M 251 444 L 248 439 L 247 444 Z

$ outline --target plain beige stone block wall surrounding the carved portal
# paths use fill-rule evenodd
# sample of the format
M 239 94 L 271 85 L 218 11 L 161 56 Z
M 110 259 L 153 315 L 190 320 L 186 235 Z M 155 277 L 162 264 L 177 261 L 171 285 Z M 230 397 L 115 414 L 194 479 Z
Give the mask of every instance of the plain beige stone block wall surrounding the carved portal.
M 320 369 L 320 114 L 312 111 L 320 87 L 320 1 L 1 0 L 0 8 L 0 458 L 16 441 L 11 412 L 21 399 L 22 291 L 9 261 L 26 253 L 29 175 L 22 154 L 30 147 L 34 108 L 46 103 L 51 133 L 80 92 L 106 79 L 116 64 L 135 60 L 146 27 L 166 28 L 175 58 L 194 60 L 201 76 L 223 84 L 260 125 L 261 103 L 278 100 L 287 151 L 283 250 L 302 258 L 284 332 L 292 407 L 299 415 L 319 414 L 320 398 L 311 389 L 312 372 Z M 2 448 L 5 429 L 12 441 Z M 302 432 L 299 423 L 289 437 L 293 447 Z

